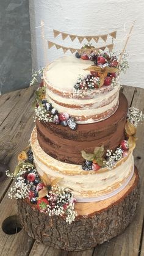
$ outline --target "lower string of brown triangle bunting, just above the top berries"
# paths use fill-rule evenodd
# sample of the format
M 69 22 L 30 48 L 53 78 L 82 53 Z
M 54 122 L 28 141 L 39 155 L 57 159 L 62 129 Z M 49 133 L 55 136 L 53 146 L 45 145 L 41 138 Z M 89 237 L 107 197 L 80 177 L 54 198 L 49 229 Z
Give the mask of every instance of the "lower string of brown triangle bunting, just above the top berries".
M 87 48 L 87 49 L 77 49 L 77 48 L 71 48 L 71 47 L 65 47 L 65 46 L 62 46 L 62 45 L 57 45 L 57 43 L 54 43 L 54 42 L 51 42 L 51 41 L 48 41 L 48 48 L 50 49 L 52 46 L 56 46 L 57 49 L 60 49 L 62 48 L 63 49 L 63 53 L 66 53 L 68 50 L 71 51 L 71 53 L 75 53 L 76 51 L 81 54 L 81 53 L 87 53 L 87 54 L 90 54 L 92 51 L 93 53 L 98 53 L 98 51 L 101 49 L 102 51 L 104 51 L 104 49 L 108 48 L 109 51 L 112 51 L 113 49 L 113 43 L 111 43 L 110 45 L 105 45 L 105 46 L 101 46 L 101 47 L 98 47 L 98 48 Z

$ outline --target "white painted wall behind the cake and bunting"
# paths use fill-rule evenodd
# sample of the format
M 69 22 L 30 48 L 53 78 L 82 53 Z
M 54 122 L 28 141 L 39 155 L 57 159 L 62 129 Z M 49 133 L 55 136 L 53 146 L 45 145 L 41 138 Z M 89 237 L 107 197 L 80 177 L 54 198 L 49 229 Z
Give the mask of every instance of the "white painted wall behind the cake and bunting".
M 35 70 L 63 56 L 62 49 L 57 50 L 55 46 L 48 49 L 46 44 L 44 47 L 41 20 L 45 23 L 47 40 L 71 48 L 81 48 L 87 41 L 82 45 L 77 39 L 71 42 L 69 37 L 63 41 L 61 35 L 54 38 L 52 30 L 76 35 L 107 34 L 117 30 L 115 50 L 123 48 L 132 21 L 136 20 L 127 46 L 129 70 L 121 75 L 121 84 L 144 88 L 144 0 L 29 0 L 29 6 Z M 112 38 L 107 42 L 111 43 Z M 103 40 L 96 46 L 99 45 L 104 45 Z

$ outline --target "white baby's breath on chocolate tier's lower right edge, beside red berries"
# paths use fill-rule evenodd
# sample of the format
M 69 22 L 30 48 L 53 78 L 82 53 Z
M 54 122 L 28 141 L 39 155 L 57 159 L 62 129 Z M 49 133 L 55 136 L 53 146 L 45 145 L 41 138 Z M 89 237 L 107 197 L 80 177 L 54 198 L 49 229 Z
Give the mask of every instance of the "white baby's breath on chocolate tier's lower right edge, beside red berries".
M 112 153 L 112 150 L 107 150 L 106 156 L 107 160 L 105 166 L 112 169 L 117 161 L 120 161 L 120 159 L 123 158 L 123 150 L 120 147 L 115 150 L 115 153 Z

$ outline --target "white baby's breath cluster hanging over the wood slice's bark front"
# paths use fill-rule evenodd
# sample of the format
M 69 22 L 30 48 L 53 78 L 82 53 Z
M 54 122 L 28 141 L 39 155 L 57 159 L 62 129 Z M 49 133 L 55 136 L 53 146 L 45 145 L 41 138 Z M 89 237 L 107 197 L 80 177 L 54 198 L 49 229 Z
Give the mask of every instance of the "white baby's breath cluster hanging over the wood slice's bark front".
M 47 194 L 49 205 L 46 213 L 49 216 L 66 216 L 66 222 L 71 224 L 77 216 L 74 211 L 73 194 L 68 189 L 60 188 L 59 185 L 53 186 L 51 191 Z

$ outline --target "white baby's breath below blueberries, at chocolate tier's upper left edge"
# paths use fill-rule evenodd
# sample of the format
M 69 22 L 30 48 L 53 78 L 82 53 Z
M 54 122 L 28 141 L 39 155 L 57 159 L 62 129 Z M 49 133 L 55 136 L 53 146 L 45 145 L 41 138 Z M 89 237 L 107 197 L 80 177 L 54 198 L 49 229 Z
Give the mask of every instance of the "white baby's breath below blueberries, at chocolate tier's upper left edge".
M 43 122 L 52 122 L 53 115 L 49 114 L 45 108 L 38 106 L 35 108 L 35 115 L 38 120 L 42 120 Z

